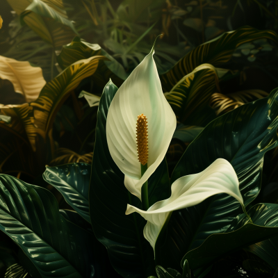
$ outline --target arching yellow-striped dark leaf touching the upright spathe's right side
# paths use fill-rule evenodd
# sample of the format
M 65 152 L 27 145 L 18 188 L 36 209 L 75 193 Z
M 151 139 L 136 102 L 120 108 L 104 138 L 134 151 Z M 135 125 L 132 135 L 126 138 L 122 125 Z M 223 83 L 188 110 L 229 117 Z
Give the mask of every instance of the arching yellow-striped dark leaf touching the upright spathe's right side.
M 204 64 L 184 76 L 165 97 L 179 122 L 206 126 L 216 117 L 208 106 L 215 92 L 220 92 L 217 70 Z

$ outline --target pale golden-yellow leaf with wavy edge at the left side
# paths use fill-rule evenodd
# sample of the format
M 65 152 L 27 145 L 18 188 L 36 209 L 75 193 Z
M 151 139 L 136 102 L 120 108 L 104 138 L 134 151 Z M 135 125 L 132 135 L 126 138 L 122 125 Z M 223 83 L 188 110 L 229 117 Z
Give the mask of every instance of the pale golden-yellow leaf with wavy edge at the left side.
M 0 56 L 0 78 L 13 83 L 15 92 L 24 95 L 26 102 L 35 101 L 46 83 L 40 67 L 3 56 Z

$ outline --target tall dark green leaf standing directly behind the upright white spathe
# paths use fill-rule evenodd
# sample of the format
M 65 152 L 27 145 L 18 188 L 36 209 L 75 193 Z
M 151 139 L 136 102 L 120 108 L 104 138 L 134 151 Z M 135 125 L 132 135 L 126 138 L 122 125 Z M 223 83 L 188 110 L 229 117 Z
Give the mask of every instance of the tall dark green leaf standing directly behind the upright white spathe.
M 115 165 L 106 141 L 106 117 L 117 87 L 109 81 L 101 96 L 97 115 L 97 136 L 92 160 L 89 203 L 90 218 L 97 239 L 107 250 L 113 268 L 122 277 L 155 275 L 154 252 L 143 237 L 145 220 L 125 215 L 126 205 L 141 208 L 137 197 L 124 186 L 124 174 Z M 149 179 L 149 205 L 170 196 L 165 160 Z

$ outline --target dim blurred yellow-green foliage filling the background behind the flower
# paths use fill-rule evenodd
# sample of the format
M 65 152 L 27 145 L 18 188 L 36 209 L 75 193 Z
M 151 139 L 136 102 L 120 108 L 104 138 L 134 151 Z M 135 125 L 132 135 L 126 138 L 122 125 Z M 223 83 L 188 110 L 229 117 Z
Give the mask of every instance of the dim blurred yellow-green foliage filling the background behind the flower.
M 70 206 L 42 180 L 45 165 L 91 163 L 96 97 L 110 78 L 119 87 L 158 35 L 154 59 L 178 119 L 170 174 L 208 122 L 278 87 L 277 0 L 1 0 L 0 14 L 0 172 L 48 188 L 60 208 Z M 233 42 L 229 32 L 242 26 L 252 28 Z M 42 69 L 34 99 L 22 64 L 5 57 Z M 17 81 L 5 77 L 8 68 Z M 265 155 L 256 202 L 278 203 L 277 158 L 278 149 Z M 250 252 L 215 263 L 213 277 L 271 277 L 274 267 Z

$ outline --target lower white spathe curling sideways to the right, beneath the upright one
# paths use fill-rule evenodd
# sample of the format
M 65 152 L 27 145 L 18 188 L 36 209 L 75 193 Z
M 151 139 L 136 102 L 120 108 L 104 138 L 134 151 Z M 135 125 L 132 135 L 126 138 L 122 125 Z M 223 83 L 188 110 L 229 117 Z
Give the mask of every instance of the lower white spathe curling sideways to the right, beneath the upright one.
M 177 179 L 172 184 L 171 190 L 172 194 L 169 199 L 156 202 L 147 211 L 129 204 L 126 208 L 126 214 L 138 212 L 147 220 L 144 236 L 153 248 L 165 220 L 172 211 L 195 206 L 204 199 L 219 193 L 227 193 L 235 197 L 244 206 L 236 172 L 231 164 L 222 158 L 218 158 L 203 172 Z

